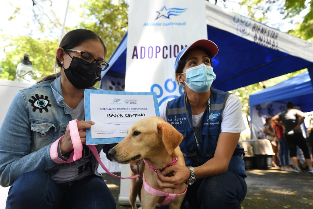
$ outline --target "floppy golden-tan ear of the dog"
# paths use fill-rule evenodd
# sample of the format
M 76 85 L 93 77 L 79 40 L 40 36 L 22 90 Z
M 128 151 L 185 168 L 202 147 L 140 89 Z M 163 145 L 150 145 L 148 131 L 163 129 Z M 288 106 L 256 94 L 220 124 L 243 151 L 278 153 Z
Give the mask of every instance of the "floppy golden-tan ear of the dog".
M 165 145 L 167 152 L 172 154 L 184 137 L 169 123 L 159 123 L 157 128 L 158 134 L 162 136 L 162 142 Z

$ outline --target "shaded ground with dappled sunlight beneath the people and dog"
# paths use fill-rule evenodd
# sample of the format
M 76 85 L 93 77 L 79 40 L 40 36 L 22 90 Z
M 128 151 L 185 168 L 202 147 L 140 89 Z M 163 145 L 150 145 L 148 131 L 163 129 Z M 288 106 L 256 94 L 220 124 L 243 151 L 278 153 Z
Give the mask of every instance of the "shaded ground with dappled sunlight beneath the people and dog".
M 120 173 L 115 173 L 121 175 Z M 242 209 L 313 208 L 313 174 L 307 170 L 301 173 L 281 171 L 276 168 L 247 170 L 248 192 L 241 204 Z M 120 179 L 110 175 L 104 177 L 113 196 L 118 201 Z M 129 209 L 129 205 L 117 208 Z

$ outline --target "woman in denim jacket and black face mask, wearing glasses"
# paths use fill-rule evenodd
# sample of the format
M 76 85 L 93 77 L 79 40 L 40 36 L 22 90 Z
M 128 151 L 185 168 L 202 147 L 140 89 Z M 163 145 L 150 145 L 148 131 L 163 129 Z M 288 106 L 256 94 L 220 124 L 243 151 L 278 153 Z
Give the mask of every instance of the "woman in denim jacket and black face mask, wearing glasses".
M 78 119 L 81 142 L 94 124 L 85 121 L 84 89 L 95 89 L 109 66 L 105 55 L 97 34 L 70 31 L 56 51 L 60 72 L 14 97 L 0 129 L 0 184 L 12 185 L 7 208 L 116 208 L 87 146 L 81 159 L 60 163 L 73 150 L 69 121 Z M 100 152 L 111 145 L 96 147 Z

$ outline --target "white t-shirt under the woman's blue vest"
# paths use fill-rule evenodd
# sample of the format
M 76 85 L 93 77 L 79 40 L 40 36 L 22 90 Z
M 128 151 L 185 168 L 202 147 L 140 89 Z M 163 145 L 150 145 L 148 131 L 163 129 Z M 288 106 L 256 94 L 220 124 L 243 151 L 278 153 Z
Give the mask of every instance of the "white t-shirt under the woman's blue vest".
M 160 107 L 160 117 L 167 121 L 166 115 L 167 102 L 164 102 Z M 192 124 L 198 125 L 204 112 L 199 115 L 192 115 Z M 230 94 L 225 103 L 225 107 L 222 112 L 222 132 L 228 133 L 240 133 L 246 129 L 244 120 L 242 118 L 242 105 L 238 97 Z

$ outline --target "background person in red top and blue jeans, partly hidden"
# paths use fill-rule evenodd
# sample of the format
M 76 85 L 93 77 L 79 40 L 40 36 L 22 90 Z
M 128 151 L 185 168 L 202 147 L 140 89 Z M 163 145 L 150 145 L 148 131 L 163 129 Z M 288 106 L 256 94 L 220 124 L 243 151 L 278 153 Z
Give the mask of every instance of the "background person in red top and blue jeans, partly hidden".
M 279 159 L 280 159 L 280 170 L 284 171 L 294 171 L 289 165 L 289 149 L 284 138 L 283 127 L 281 125 L 273 124 L 273 128 L 277 133 L 277 138 L 279 141 Z

